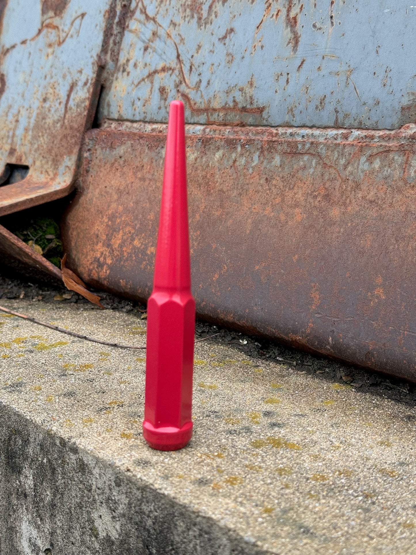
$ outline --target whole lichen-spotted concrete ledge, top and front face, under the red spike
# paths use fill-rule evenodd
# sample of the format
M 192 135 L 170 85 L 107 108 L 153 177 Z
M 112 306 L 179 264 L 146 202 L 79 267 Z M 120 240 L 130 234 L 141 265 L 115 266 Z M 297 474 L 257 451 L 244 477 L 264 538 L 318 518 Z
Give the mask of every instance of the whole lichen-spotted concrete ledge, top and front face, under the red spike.
M 2 304 L 144 345 L 137 315 Z M 145 445 L 145 354 L 0 314 L 0 553 L 416 552 L 416 408 L 195 346 L 194 437 Z

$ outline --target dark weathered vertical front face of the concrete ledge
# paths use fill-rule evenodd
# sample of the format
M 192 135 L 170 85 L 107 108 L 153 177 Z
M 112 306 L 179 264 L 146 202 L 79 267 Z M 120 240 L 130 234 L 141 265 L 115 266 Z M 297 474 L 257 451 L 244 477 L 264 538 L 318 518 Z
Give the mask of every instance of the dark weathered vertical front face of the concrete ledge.
M 260 553 L 148 483 L 0 407 L 0 552 Z

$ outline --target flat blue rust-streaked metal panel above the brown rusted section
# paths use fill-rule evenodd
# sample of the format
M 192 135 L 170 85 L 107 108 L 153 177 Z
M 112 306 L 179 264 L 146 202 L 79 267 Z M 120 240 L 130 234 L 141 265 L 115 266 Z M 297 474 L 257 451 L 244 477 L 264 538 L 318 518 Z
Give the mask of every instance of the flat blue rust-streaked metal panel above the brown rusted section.
M 103 118 L 396 129 L 416 122 L 404 0 L 138 0 Z

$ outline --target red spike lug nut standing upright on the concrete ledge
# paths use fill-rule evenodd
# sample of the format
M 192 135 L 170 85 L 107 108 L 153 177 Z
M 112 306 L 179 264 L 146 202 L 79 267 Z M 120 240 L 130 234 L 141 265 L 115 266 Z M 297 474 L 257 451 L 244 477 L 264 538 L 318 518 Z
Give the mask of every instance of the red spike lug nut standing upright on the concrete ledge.
M 184 105 L 170 104 L 153 292 L 148 301 L 143 437 L 174 451 L 192 436 L 195 301 L 186 198 Z

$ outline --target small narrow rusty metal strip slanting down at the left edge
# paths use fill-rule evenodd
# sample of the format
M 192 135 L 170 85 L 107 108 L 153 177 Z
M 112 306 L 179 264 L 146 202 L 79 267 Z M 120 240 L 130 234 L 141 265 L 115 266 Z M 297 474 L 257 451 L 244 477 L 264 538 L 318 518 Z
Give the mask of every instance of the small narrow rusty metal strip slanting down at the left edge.
M 3 264 L 14 266 L 32 279 L 52 278 L 62 285 L 62 273 L 44 256 L 35 252 L 24 241 L 0 225 L 0 255 Z

